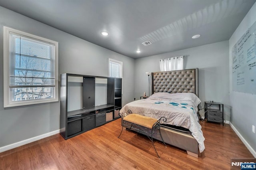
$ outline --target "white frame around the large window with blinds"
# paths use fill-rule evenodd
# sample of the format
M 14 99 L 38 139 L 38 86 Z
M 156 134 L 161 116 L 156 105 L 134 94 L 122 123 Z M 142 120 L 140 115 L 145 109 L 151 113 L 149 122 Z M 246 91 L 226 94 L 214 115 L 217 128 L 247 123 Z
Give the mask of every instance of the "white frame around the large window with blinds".
M 26 32 L 15 30 L 4 26 L 4 108 L 6 107 L 16 107 L 24 105 L 34 105 L 40 103 L 50 103 L 59 101 L 59 85 L 58 85 L 58 42 L 42 38 L 40 36 L 35 36 Z M 32 100 L 20 100 L 12 101 L 11 88 L 10 88 L 10 32 L 15 34 L 20 34 L 31 39 L 52 43 L 54 47 L 54 75 L 55 75 L 55 87 L 54 87 L 54 97 L 50 99 L 32 99 Z

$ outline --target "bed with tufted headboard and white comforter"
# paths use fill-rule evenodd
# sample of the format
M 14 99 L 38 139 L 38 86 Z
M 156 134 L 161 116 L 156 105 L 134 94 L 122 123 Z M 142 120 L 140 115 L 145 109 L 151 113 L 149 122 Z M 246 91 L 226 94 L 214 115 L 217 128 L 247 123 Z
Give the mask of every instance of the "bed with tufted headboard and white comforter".
M 151 73 L 152 95 L 126 104 L 122 117 L 136 113 L 159 119 L 164 141 L 198 157 L 204 151 L 204 136 L 198 121 L 198 68 Z M 128 128 L 128 127 L 127 127 Z M 160 140 L 159 134 L 153 138 Z

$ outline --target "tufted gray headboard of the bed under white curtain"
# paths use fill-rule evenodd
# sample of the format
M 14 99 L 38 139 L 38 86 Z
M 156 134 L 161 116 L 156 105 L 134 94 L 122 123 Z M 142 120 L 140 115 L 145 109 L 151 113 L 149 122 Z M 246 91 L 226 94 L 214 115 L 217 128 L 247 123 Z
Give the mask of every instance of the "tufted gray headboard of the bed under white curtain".
M 151 92 L 198 93 L 198 68 L 151 73 Z

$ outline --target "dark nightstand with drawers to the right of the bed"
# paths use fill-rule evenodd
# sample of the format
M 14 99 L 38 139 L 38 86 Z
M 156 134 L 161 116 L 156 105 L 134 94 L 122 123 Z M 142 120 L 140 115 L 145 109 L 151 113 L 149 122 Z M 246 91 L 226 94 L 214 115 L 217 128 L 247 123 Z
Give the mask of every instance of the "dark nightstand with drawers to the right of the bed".
M 204 102 L 206 122 L 222 123 L 224 126 L 224 105 L 218 102 Z

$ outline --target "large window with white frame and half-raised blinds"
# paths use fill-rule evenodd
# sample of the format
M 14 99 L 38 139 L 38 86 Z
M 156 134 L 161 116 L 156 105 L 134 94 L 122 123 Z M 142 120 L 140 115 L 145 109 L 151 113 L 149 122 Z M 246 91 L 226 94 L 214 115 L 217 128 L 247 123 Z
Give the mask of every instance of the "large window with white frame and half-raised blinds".
M 58 42 L 4 27 L 4 107 L 54 101 Z

